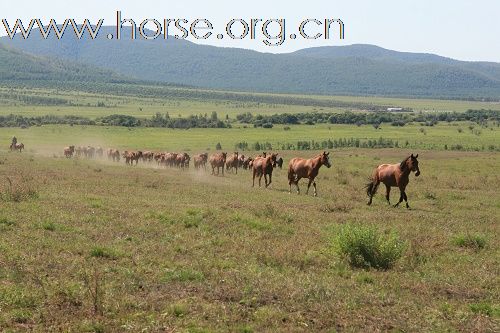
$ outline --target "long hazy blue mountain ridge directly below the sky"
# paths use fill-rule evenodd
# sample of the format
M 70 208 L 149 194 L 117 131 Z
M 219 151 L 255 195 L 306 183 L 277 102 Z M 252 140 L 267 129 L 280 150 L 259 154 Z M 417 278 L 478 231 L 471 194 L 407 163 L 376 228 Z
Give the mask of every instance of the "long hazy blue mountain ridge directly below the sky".
M 464 62 L 372 45 L 304 49 L 288 54 L 194 44 L 186 40 L 44 40 L 33 31 L 0 43 L 25 52 L 105 68 L 140 80 L 210 89 L 275 93 L 499 98 L 500 64 Z

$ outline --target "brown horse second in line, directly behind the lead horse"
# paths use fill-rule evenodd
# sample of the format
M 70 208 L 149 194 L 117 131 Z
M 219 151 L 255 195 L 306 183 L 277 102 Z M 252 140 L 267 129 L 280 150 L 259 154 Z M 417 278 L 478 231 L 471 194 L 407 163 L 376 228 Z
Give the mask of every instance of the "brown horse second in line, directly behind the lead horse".
M 321 168 L 322 165 L 326 165 L 327 168 L 332 166 L 328 155 L 330 155 L 330 153 L 324 151 L 318 156 L 308 160 L 299 157 L 292 158 L 290 163 L 288 163 L 288 185 L 290 185 L 289 192 L 292 192 L 292 184 L 295 184 L 295 186 L 297 186 L 297 194 L 299 194 L 299 180 L 301 178 L 307 178 L 309 179 L 309 183 L 307 184 L 306 194 L 309 193 L 309 188 L 312 184 L 314 187 L 314 196 L 317 196 L 318 192 L 316 191 L 316 182 L 314 181 L 314 178 L 318 175 L 319 168 Z

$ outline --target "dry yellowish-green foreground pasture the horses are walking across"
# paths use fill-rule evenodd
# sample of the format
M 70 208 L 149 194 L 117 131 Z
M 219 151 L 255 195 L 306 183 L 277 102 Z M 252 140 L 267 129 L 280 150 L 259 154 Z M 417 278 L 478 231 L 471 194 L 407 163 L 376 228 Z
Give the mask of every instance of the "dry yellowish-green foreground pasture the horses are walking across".
M 0 331 L 498 332 L 500 155 L 420 152 L 412 209 L 381 193 L 366 206 L 372 169 L 407 153 L 334 151 L 314 198 L 288 194 L 285 170 L 264 189 L 248 171 L 1 151 Z M 345 225 L 406 250 L 389 270 L 351 267 L 334 246 Z

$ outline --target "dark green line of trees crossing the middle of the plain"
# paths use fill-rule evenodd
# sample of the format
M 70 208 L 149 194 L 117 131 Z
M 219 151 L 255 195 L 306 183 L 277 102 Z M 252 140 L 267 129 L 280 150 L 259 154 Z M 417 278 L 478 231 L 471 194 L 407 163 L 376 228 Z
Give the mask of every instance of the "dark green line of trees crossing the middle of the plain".
M 254 115 L 242 113 L 236 120 L 242 124 L 253 124 L 254 127 L 271 128 L 275 124 L 282 125 L 314 125 L 314 124 L 356 124 L 373 125 L 391 124 L 405 126 L 410 122 L 433 126 L 440 121 L 473 121 L 482 124 L 487 121 L 500 122 L 500 111 L 497 110 L 468 110 L 466 112 L 439 112 L 439 113 L 393 113 L 393 112 L 309 112 L 309 113 L 281 113 L 273 115 Z M 29 127 L 48 124 L 69 125 L 105 125 L 124 127 L 165 127 L 165 128 L 227 128 L 231 127 L 231 120 L 221 120 L 216 112 L 211 115 L 190 115 L 188 117 L 171 117 L 168 113 L 157 113 L 151 118 L 137 118 L 129 115 L 113 114 L 96 118 L 95 120 L 81 116 L 22 116 L 10 114 L 0 116 L 0 127 Z

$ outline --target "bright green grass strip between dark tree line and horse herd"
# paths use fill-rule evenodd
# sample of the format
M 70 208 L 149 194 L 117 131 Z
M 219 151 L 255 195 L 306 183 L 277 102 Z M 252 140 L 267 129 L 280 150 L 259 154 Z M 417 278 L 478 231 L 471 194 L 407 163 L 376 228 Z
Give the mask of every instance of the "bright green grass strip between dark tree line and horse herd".
M 472 126 L 472 129 L 470 128 Z M 398 141 L 400 147 L 407 149 L 444 150 L 461 145 L 469 150 L 489 150 L 490 146 L 500 148 L 500 128 L 490 126 L 481 128 L 469 122 L 440 123 L 438 125 L 407 125 L 404 128 L 382 125 L 375 129 L 370 125 L 293 125 L 285 131 L 283 126 L 272 129 L 244 128 L 237 125 L 231 129 L 162 129 L 104 126 L 46 125 L 40 127 L 0 128 L 0 142 L 7 147 L 15 135 L 32 152 L 62 154 L 68 145 L 100 145 L 119 149 L 142 150 L 214 150 L 221 143 L 224 150 L 234 150 L 239 142 L 250 146 L 255 142 L 269 142 L 274 149 L 283 144 L 297 141 L 360 139 L 361 141 L 387 140 Z M 408 144 L 407 144 L 408 142 Z

